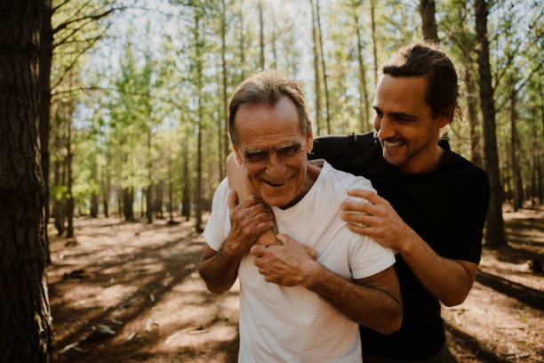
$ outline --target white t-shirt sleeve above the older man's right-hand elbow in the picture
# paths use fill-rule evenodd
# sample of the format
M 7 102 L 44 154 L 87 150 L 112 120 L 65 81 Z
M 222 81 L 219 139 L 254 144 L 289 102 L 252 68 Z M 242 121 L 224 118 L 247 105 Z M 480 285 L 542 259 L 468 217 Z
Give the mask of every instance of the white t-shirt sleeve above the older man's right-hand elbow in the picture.
M 372 238 L 361 236 L 349 254 L 353 278 L 366 278 L 395 263 L 395 254 Z

